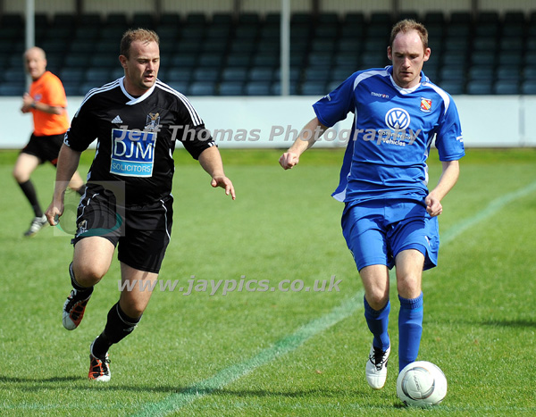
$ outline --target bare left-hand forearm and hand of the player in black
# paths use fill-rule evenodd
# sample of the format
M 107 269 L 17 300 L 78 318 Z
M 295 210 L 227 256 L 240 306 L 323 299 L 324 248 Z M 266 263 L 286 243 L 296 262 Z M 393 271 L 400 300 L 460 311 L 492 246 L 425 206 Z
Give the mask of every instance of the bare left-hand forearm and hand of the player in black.
M 55 217 L 60 217 L 63 214 L 63 197 L 65 190 L 71 182 L 74 172 L 79 166 L 81 152 L 71 149 L 69 146 L 63 145 L 58 156 L 58 164 L 56 171 L 56 180 L 54 184 L 54 196 L 52 203 L 46 209 L 46 219 L 51 225 L 56 224 Z

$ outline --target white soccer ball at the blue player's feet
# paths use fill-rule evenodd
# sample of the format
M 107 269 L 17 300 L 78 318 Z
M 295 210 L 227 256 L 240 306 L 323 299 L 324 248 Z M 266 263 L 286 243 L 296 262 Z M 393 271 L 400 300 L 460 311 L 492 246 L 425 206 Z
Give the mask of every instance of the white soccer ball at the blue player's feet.
M 431 407 L 440 404 L 446 395 L 447 378 L 433 363 L 409 363 L 398 374 L 397 396 L 406 405 Z

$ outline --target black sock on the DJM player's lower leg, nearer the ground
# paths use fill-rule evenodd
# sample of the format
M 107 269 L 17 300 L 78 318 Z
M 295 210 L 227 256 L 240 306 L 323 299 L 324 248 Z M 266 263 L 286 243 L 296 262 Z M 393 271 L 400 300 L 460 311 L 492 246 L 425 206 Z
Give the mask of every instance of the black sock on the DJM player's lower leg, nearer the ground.
M 129 336 L 136 329 L 140 320 L 141 316 L 133 319 L 126 315 L 121 310 L 119 302 L 113 304 L 113 307 L 108 312 L 105 331 L 93 343 L 93 354 L 98 358 L 104 358 L 110 346 Z

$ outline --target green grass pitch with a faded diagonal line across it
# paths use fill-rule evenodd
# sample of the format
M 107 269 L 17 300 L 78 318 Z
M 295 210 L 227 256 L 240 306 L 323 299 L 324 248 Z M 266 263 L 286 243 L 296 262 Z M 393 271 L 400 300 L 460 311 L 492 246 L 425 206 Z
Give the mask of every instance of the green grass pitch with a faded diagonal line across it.
M 469 149 L 443 202 L 440 265 L 423 275 L 419 359 L 448 379 L 432 411 L 396 396 L 398 302 L 386 387 L 373 391 L 364 379 L 372 338 L 340 232 L 342 204 L 330 196 L 342 151 L 311 149 L 291 171 L 279 167 L 280 154 L 222 150 L 233 202 L 176 152 L 172 243 L 160 279 L 179 285 L 155 291 L 138 329 L 110 350 L 112 380 L 94 383 L 88 347 L 119 296 L 119 264 L 96 287 L 80 328 L 63 329 L 70 237 L 47 227 L 22 238 L 31 212 L 11 176 L 16 153 L 0 153 L 0 414 L 535 415 L 536 150 Z M 82 175 L 91 157 L 83 155 Z M 433 186 L 440 163 L 435 153 L 430 160 Z M 40 167 L 33 179 L 46 207 L 54 170 Z M 200 287 L 187 296 L 192 276 Z M 332 276 L 339 291 L 312 289 Z M 237 286 L 211 296 L 211 279 L 304 288 Z

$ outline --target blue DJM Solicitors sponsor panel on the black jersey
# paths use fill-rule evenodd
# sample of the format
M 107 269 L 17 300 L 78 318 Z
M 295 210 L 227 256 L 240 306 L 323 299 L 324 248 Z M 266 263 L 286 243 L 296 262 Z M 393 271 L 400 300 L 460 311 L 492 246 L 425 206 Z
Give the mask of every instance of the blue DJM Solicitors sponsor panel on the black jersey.
M 155 163 L 156 133 L 112 129 L 110 172 L 125 177 L 151 177 Z

